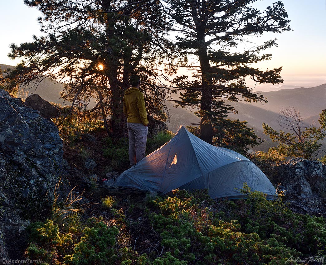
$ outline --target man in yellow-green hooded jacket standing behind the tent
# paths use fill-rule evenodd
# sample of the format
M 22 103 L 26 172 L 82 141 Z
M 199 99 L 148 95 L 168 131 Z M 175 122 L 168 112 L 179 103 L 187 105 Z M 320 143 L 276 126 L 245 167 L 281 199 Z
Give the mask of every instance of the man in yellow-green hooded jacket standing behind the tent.
M 129 161 L 133 166 L 145 157 L 148 120 L 144 95 L 139 90 L 140 76 L 131 75 L 129 83 L 131 88 L 126 90 L 123 97 L 123 112 L 127 117 Z

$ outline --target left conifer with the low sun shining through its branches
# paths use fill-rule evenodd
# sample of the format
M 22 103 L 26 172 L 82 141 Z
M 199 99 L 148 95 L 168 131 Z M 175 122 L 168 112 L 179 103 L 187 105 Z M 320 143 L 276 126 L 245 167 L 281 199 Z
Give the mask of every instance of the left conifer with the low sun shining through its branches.
M 32 0 L 44 36 L 12 44 L 12 58 L 26 58 L 11 73 L 20 83 L 43 78 L 65 81 L 62 97 L 74 105 L 96 98 L 94 110 L 104 121 L 110 116 L 111 134 L 122 136 L 125 117 L 122 98 L 128 76 L 140 74 L 145 100 L 153 116 L 165 96 L 157 64 L 170 43 L 164 37 L 169 23 L 161 3 L 152 0 Z

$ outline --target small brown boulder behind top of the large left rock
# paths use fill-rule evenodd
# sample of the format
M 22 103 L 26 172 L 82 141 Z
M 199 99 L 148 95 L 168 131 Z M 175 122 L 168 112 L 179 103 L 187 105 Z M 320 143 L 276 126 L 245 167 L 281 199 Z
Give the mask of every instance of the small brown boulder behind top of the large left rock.
M 60 110 L 37 94 L 26 97 L 24 104 L 38 110 L 43 118 L 51 119 L 60 114 Z

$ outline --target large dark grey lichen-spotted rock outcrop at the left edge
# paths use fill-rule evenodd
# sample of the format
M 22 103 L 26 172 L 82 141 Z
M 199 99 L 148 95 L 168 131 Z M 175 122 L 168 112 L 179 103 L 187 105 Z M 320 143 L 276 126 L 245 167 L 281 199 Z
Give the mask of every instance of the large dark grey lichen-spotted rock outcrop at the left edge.
M 57 127 L 0 90 L 0 257 L 15 256 L 30 220 L 49 208 L 63 174 Z

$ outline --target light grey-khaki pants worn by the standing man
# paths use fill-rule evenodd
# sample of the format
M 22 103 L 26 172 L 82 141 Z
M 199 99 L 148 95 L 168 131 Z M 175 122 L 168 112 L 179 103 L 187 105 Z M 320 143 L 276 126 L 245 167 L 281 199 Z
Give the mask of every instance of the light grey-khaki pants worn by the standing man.
M 129 161 L 130 166 L 135 165 L 145 157 L 147 126 L 142 123 L 127 123 L 129 135 Z

